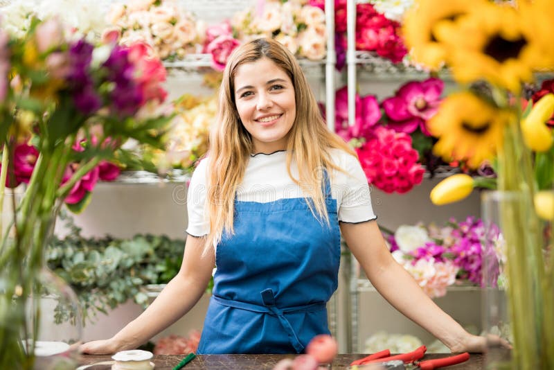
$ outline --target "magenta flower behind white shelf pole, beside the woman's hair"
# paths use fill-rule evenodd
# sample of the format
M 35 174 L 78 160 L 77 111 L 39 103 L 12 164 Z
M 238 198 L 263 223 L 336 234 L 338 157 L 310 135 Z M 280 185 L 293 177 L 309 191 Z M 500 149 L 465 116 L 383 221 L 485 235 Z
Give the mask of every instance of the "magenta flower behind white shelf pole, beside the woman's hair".
M 381 119 L 381 109 L 373 95 L 360 97 L 356 94 L 356 118 L 352 127 L 348 125 L 348 87 L 342 87 L 335 94 L 335 130 L 346 141 L 352 138 L 370 136 Z

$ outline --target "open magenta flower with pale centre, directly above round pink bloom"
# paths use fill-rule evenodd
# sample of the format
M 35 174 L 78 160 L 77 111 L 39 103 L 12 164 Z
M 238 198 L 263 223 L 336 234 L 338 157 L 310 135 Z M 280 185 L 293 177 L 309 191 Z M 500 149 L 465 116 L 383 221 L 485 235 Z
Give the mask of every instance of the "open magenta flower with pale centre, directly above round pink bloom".
M 425 123 L 437 112 L 444 82 L 439 78 L 411 81 L 402 85 L 391 98 L 386 98 L 383 109 L 388 116 L 388 127 L 411 134 L 418 127 L 430 136 Z

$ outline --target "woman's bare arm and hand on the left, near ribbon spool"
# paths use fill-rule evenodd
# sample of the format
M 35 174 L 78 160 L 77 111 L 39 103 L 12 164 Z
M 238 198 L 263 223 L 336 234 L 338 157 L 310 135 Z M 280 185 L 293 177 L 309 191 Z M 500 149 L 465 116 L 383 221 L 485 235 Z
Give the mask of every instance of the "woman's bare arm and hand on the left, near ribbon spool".
M 114 337 L 85 343 L 81 351 L 99 355 L 135 349 L 185 315 L 206 291 L 215 265 L 213 249 L 204 256 L 203 251 L 203 238 L 187 236 L 181 270 L 152 304 Z

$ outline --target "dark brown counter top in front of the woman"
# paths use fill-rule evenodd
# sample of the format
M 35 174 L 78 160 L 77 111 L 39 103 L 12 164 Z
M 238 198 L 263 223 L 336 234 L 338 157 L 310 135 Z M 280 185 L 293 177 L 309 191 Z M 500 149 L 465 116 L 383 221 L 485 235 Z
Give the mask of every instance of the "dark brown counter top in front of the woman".
M 366 355 L 348 354 L 337 355 L 330 369 L 347 369 L 350 362 L 363 358 Z M 447 357 L 449 354 L 427 354 L 424 360 Z M 154 356 L 155 370 L 172 370 L 185 355 L 156 355 Z M 193 361 L 186 364 L 183 370 L 271 370 L 283 358 L 294 358 L 294 355 L 198 355 Z M 109 355 L 83 355 L 82 364 L 111 360 Z M 87 370 L 109 370 L 110 365 L 88 367 Z M 321 367 L 321 369 L 324 369 Z M 470 360 L 447 369 L 476 370 L 483 369 L 483 355 L 472 354 Z

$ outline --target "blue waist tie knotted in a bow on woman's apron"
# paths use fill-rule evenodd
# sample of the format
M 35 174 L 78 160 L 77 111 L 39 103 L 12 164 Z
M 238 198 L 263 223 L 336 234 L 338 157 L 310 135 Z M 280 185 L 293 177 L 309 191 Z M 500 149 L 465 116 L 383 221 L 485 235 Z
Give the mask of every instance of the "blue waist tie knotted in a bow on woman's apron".
M 215 295 L 212 296 L 212 299 L 217 303 L 220 303 L 222 306 L 240 308 L 241 310 L 248 310 L 251 312 L 269 313 L 269 315 L 276 316 L 281 326 L 283 326 L 285 333 L 287 333 L 289 341 L 294 347 L 296 353 L 302 353 L 304 351 L 304 346 L 298 339 L 298 335 L 296 335 L 296 332 L 294 331 L 294 328 L 292 328 L 289 320 L 287 320 L 287 317 L 285 317 L 285 313 L 316 312 L 325 310 L 325 302 L 310 303 L 303 306 L 278 308 L 275 305 L 275 295 L 273 290 L 266 289 L 262 290 L 262 292 L 260 293 L 262 294 L 262 300 L 265 306 L 242 301 L 234 301 L 233 299 L 225 299 L 222 297 L 217 297 Z

